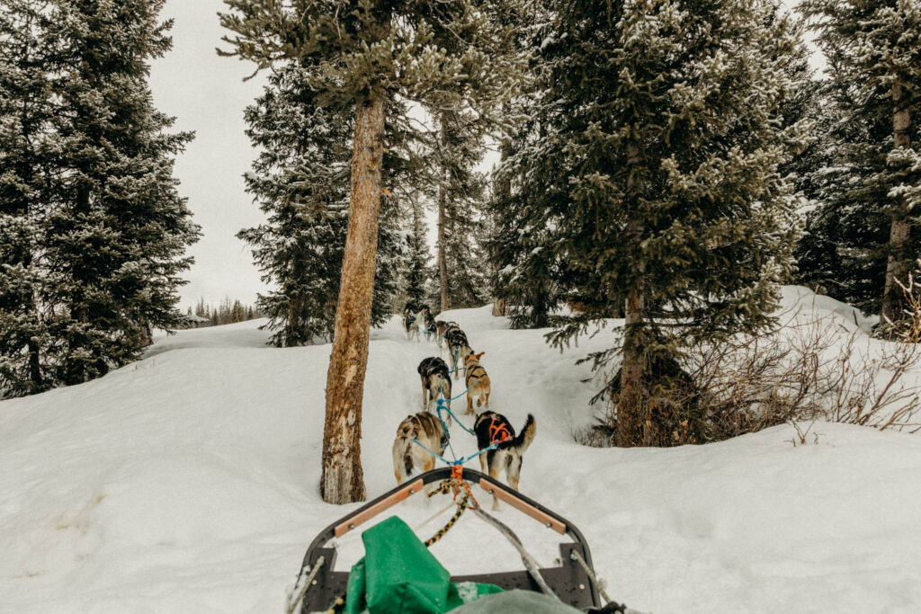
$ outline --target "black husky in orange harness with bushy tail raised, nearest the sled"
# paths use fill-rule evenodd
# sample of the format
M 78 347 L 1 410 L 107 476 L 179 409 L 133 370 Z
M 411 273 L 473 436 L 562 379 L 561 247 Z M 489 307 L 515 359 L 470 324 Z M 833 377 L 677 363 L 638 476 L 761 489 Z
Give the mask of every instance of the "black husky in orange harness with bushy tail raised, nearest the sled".
M 534 441 L 534 435 L 537 434 L 534 416 L 528 414 L 528 420 L 525 421 L 521 433 L 515 436 L 515 429 L 504 415 L 495 411 L 484 411 L 476 417 L 473 431 L 476 433 L 476 445 L 481 450 L 498 444 L 494 450 L 480 455 L 480 469 L 488 473 L 493 480 L 498 480 L 499 472 L 505 469 L 508 485 L 516 491 L 519 490 L 521 460 L 524 458 L 525 450 Z M 494 496 L 493 509 L 498 508 L 499 502 Z

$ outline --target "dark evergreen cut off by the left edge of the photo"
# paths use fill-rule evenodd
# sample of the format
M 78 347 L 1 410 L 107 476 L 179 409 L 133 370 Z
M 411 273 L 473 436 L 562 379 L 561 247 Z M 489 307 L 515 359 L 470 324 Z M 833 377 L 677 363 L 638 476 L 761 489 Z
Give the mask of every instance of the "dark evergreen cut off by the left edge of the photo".
M 57 115 L 48 8 L 33 0 L 0 6 L 0 397 L 53 384 L 42 352 L 47 313 L 36 300 Z

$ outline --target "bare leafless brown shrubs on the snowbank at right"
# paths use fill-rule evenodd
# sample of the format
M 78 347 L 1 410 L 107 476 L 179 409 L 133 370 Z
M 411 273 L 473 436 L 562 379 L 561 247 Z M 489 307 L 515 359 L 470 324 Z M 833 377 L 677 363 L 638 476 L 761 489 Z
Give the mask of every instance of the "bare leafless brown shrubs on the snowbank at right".
M 694 386 L 674 387 L 668 403 L 651 402 L 647 416 L 662 434 L 652 445 L 721 441 L 783 423 L 824 420 L 915 433 L 921 423 L 921 284 L 903 285 L 905 319 L 888 323 L 874 339 L 834 315 L 781 314 L 781 326 L 693 348 L 682 371 Z M 814 312 L 813 312 L 814 313 Z M 589 446 L 611 446 L 616 383 L 605 390 L 609 415 L 574 436 Z M 686 394 L 684 394 L 686 392 Z M 660 395 L 659 395 L 660 396 Z M 656 401 L 652 390 L 647 399 Z M 665 407 L 668 411 L 662 411 Z M 675 409 L 679 408 L 679 409 Z M 683 409 L 682 409 L 683 408 Z

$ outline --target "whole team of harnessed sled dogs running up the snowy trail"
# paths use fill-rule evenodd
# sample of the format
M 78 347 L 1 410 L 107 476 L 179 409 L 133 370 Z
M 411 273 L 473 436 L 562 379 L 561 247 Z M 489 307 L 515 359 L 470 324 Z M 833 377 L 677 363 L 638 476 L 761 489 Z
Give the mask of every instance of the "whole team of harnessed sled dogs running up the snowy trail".
M 454 399 L 451 395 L 451 374 L 457 379 L 462 368 L 467 394 L 465 413 L 476 416 L 473 432 L 476 434 L 477 447 L 484 450 L 495 446 L 480 455 L 480 469 L 494 480 L 498 479 L 504 469 L 509 486 L 518 490 L 521 460 L 537 433 L 534 416 L 528 414 L 528 420 L 516 435 L 505 416 L 489 411 L 492 382 L 480 363 L 485 352 L 473 352 L 467 335 L 457 322 L 436 320 L 428 306 L 410 303 L 403 309 L 403 329 L 410 341 L 414 338 L 420 341 L 420 332 L 424 331 L 427 340 L 435 337 L 439 348 L 444 342 L 448 347 L 451 365 L 449 368 L 441 358 L 430 356 L 419 363 L 416 369 L 422 380 L 423 411 L 407 416 L 397 428 L 397 436 L 393 441 L 393 473 L 397 483 L 406 481 L 414 469 L 435 469 L 436 458 L 428 450 L 437 452 L 439 456 L 445 453 L 449 442 L 446 429 L 451 424 L 451 414 L 448 413 L 447 419 L 442 422 L 432 411 L 439 398 L 450 409 L 451 400 Z M 476 414 L 473 410 L 473 400 L 476 400 L 477 408 L 484 407 L 482 413 Z M 494 497 L 493 509 L 497 505 Z

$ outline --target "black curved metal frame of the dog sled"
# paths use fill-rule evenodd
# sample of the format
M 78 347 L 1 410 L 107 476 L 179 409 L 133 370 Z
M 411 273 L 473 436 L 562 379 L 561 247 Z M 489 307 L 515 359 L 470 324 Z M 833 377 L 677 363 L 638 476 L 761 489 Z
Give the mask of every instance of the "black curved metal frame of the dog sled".
M 505 484 L 493 480 L 489 476 L 473 469 L 463 469 L 463 480 L 479 484 L 485 492 L 495 495 L 499 501 L 511 505 L 520 512 L 534 518 L 544 527 L 548 527 L 573 539 L 572 542 L 560 544 L 560 566 L 542 568 L 541 575 L 547 585 L 554 590 L 556 596 L 564 603 L 574 608 L 600 608 L 601 600 L 598 588 L 589 580 L 589 574 L 576 562 L 574 552 L 582 557 L 593 569 L 589 544 L 582 533 L 563 516 L 555 514 L 541 504 L 508 488 Z M 385 492 L 374 501 L 356 509 L 355 512 L 343 516 L 329 527 L 324 528 L 313 539 L 304 562 L 301 565 L 301 574 L 308 568 L 313 569 L 320 557 L 324 564 L 313 577 L 311 585 L 307 588 L 301 604 L 302 614 L 309 612 L 326 611 L 332 602 L 345 594 L 348 583 L 348 572 L 333 571 L 336 561 L 336 550 L 326 548 L 326 544 L 333 538 L 341 538 L 346 533 L 355 530 L 371 518 L 390 509 L 393 505 L 405 501 L 417 492 L 422 492 L 426 484 L 440 482 L 451 477 L 451 468 L 434 469 L 415 476 L 390 492 Z M 302 577 L 298 574 L 298 578 Z M 527 571 L 500 572 L 500 573 L 474 573 L 472 575 L 452 575 L 451 582 L 477 582 L 497 585 L 505 590 L 521 589 L 540 592 L 541 589 L 530 577 Z

